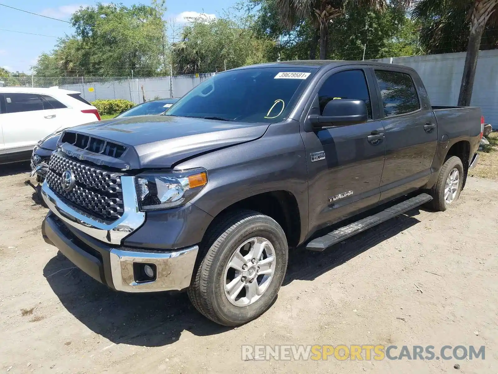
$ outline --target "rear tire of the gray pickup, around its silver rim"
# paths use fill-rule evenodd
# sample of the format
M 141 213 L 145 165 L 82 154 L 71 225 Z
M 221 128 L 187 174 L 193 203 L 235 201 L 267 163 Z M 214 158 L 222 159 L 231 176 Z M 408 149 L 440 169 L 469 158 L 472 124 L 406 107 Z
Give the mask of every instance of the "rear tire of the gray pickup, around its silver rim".
M 452 196 L 447 199 L 445 197 L 446 183 L 449 181 L 448 177 L 450 174 L 456 170 L 458 172 L 458 185 L 453 183 L 456 187 L 456 191 L 452 192 Z M 451 179 L 451 178 L 450 178 Z M 462 191 L 462 185 L 464 180 L 464 167 L 460 158 L 456 156 L 450 157 L 441 167 L 439 171 L 439 177 L 436 184 L 431 188 L 431 195 L 433 200 L 431 201 L 432 208 L 436 211 L 445 211 L 451 204 L 453 204 L 460 197 L 460 192 Z M 452 191 L 454 188 L 452 188 Z M 451 200 L 451 201 L 449 201 Z

